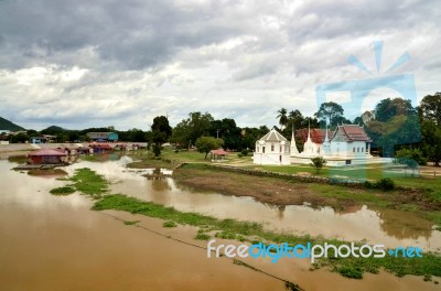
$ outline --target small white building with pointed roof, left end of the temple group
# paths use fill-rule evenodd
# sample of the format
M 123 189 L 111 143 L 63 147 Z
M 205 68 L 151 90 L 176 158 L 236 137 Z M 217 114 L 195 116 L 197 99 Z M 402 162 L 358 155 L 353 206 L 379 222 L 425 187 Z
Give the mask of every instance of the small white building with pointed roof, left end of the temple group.
M 256 164 L 290 164 L 290 142 L 275 128 L 256 141 Z

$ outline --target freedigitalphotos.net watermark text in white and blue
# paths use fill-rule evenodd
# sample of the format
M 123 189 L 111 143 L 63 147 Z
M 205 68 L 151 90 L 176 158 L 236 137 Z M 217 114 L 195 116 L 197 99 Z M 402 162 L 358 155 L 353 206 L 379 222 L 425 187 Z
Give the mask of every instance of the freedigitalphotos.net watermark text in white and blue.
M 280 245 L 265 245 L 262 242 L 255 244 L 251 246 L 247 245 L 215 245 L 216 239 L 212 239 L 207 244 L 207 257 L 219 258 L 225 256 L 227 258 L 269 258 L 272 263 L 279 261 L 279 259 L 287 257 L 289 259 L 310 259 L 313 263 L 319 258 L 384 258 L 390 257 L 402 257 L 402 258 L 422 258 L 422 249 L 419 247 L 398 247 L 395 249 L 385 249 L 385 245 L 362 245 L 358 246 L 355 242 L 348 245 L 334 246 L 332 244 L 324 242 L 305 245 L 298 244 L 290 246 L 288 242 Z M 213 256 L 214 254 L 214 256 Z

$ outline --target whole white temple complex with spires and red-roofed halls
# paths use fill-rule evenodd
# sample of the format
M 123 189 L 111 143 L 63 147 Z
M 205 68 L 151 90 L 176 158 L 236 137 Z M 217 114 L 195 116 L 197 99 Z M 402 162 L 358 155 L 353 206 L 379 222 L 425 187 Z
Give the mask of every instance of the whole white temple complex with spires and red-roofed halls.
M 297 148 L 295 138 L 303 142 L 302 152 Z M 370 155 L 370 142 L 364 127 L 358 125 L 341 125 L 335 131 L 292 130 L 291 142 L 272 129 L 256 142 L 252 160 L 256 164 L 310 164 L 311 159 L 322 157 L 331 166 L 388 162 Z

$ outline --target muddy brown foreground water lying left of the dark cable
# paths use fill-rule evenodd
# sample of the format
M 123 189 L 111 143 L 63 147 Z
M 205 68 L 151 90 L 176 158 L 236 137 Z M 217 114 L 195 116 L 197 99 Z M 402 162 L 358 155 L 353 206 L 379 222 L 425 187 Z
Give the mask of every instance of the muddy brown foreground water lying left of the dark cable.
M 10 168 L 0 161 L 0 290 L 283 290 L 229 260 L 207 260 L 203 249 L 92 212 L 85 196 L 49 194 L 65 182 Z

